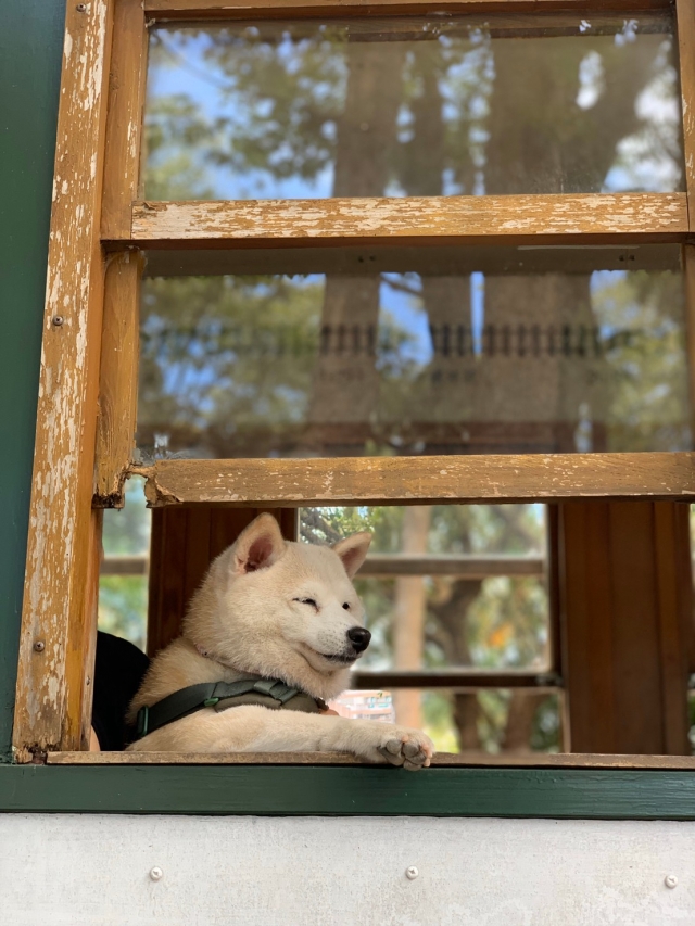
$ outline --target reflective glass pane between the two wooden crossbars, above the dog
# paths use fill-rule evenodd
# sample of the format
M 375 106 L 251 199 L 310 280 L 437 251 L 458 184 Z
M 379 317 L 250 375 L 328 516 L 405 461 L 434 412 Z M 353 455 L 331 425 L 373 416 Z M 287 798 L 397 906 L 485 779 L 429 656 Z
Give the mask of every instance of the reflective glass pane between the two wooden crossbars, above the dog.
M 187 259 L 143 283 L 143 460 L 691 446 L 675 246 Z

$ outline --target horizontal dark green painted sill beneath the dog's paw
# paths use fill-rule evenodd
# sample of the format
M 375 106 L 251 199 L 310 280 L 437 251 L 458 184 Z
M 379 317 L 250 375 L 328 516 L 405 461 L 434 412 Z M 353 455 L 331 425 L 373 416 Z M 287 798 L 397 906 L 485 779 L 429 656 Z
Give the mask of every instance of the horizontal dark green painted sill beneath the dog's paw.
M 7 812 L 695 820 L 695 774 L 295 765 L 0 768 Z

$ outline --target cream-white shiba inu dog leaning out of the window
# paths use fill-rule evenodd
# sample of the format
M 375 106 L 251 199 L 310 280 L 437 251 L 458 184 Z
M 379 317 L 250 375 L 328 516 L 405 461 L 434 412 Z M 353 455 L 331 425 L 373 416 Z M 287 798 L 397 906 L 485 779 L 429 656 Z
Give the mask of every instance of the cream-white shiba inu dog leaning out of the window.
M 324 700 L 348 687 L 350 667 L 369 645 L 352 579 L 370 540 L 363 532 L 333 547 L 291 543 L 271 515 L 257 517 L 213 562 L 191 601 L 182 635 L 153 660 L 130 706 L 129 721 L 144 722 L 141 738 L 129 749 L 330 751 L 413 771 L 429 765 L 434 748 L 421 731 L 318 712 Z M 269 709 L 257 695 L 251 695 L 251 702 L 242 695 L 229 708 L 206 698 L 192 712 L 180 702 L 182 689 L 210 695 L 214 683 L 231 683 L 232 690 L 250 676 L 247 684 L 256 678 L 266 688 L 270 683 L 265 680 L 276 680 L 276 694 L 299 689 L 296 703 L 309 701 L 315 712 L 305 712 L 306 707 Z M 208 683 L 207 689 L 202 683 Z M 175 719 L 168 720 L 173 702 L 168 713 Z M 273 698 L 268 703 L 280 706 Z M 292 700 L 287 707 L 293 707 Z M 164 722 L 148 733 L 152 726 L 147 718 L 156 711 Z

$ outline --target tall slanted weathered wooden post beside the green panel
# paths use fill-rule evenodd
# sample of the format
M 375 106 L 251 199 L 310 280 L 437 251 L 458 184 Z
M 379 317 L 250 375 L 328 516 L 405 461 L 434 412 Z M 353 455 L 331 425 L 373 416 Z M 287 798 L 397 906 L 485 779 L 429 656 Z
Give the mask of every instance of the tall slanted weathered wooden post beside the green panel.
M 92 0 L 67 3 L 66 11 L 13 733 L 20 761 L 84 741 L 85 659 L 98 574 L 89 538 L 112 8 L 109 0 Z

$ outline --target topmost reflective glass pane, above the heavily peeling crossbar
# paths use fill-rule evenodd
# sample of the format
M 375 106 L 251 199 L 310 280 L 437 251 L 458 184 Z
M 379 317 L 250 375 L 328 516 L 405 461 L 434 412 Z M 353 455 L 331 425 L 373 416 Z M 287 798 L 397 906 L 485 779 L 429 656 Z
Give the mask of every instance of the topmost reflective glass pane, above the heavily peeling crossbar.
M 146 198 L 682 189 L 671 20 L 152 30 Z

